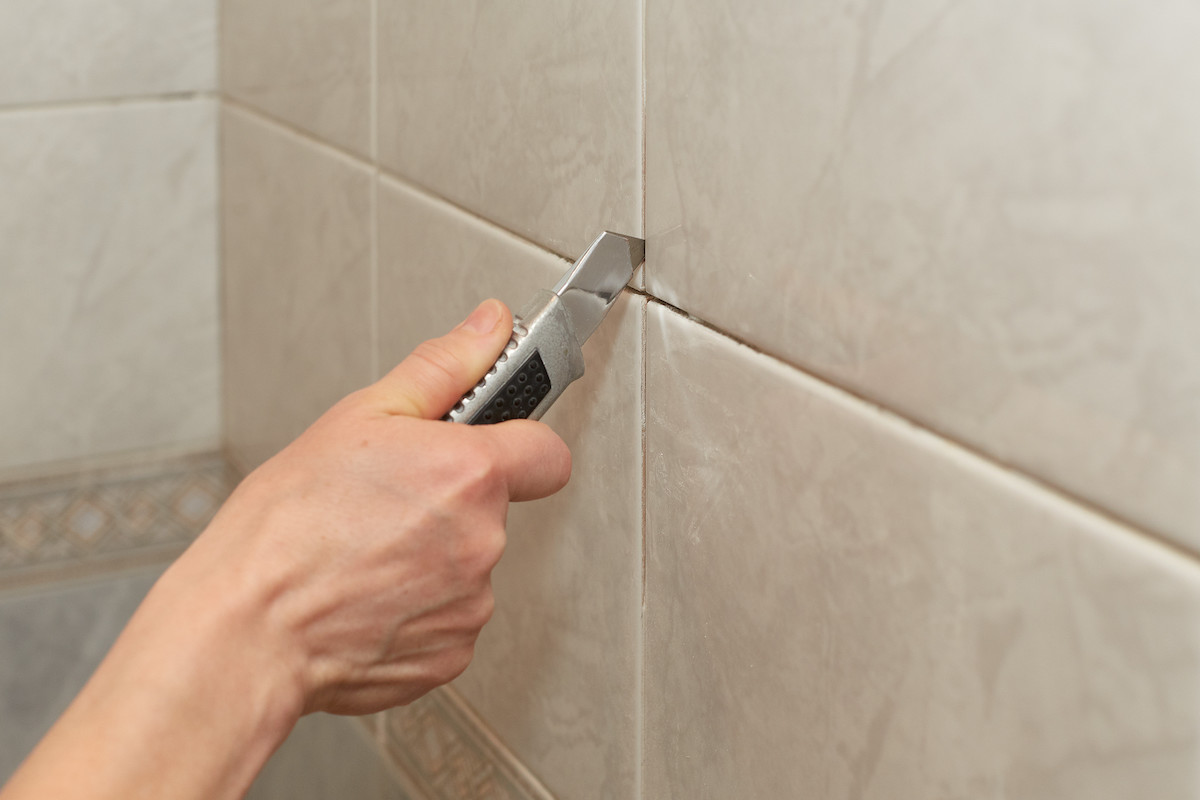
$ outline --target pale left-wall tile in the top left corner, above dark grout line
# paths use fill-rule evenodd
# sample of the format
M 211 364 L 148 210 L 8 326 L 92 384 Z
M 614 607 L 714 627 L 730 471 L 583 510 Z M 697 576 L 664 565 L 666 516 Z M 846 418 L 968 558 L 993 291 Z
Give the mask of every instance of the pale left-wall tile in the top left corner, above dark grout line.
M 5 0 L 0 106 L 216 88 L 214 0 Z

